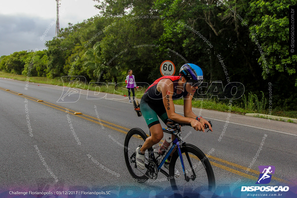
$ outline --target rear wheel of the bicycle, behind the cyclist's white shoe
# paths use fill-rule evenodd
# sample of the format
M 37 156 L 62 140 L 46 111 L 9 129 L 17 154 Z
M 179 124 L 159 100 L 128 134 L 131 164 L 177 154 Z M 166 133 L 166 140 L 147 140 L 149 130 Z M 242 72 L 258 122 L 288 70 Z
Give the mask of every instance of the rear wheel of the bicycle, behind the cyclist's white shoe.
M 138 135 L 140 137 L 138 137 Z M 148 180 L 147 169 L 144 170 L 140 169 L 136 166 L 136 161 L 131 162 L 130 157 L 132 157 L 132 161 L 135 160 L 135 152 L 136 148 L 139 145 L 143 145 L 144 141 L 146 140 L 147 135 L 143 132 L 140 128 L 132 128 L 127 133 L 125 142 L 124 142 L 124 158 L 126 162 L 127 169 L 130 175 L 139 183 L 146 182 Z M 145 154 L 148 157 L 148 152 L 146 151 Z

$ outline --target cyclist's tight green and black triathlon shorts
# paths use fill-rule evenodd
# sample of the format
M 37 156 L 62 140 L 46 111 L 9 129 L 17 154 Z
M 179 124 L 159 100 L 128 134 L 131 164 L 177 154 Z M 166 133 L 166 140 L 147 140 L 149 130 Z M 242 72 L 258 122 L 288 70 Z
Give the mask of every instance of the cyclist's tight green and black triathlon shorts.
M 155 124 L 160 123 L 158 116 L 164 123 L 165 123 L 165 120 L 168 119 L 168 115 L 163 104 L 154 105 L 142 99 L 140 101 L 140 111 L 144 119 L 146 120 L 146 124 L 148 125 L 149 128 L 151 128 L 151 126 Z

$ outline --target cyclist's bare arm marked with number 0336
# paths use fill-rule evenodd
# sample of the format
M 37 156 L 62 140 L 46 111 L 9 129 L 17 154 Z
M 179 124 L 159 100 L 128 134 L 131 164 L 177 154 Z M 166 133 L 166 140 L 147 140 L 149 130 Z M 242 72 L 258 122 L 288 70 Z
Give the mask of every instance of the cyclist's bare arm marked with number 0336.
M 173 95 L 173 83 L 170 79 L 162 79 L 157 84 L 157 90 L 161 92 L 163 104 L 165 106 L 168 118 L 180 123 L 189 123 L 196 131 L 203 131 L 204 127 L 200 122 L 193 118 L 185 118 L 177 113 L 175 113 L 175 108 L 172 100 Z

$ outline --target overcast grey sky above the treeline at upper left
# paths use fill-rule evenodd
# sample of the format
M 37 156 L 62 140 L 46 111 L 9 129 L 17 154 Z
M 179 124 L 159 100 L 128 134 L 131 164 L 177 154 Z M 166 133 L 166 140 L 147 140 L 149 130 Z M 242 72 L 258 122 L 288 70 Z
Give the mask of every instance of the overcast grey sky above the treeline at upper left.
M 60 28 L 67 27 L 69 22 L 76 24 L 99 14 L 99 10 L 94 7 L 96 2 L 92 0 L 61 0 L 60 2 Z M 46 49 L 45 41 L 55 36 L 56 5 L 55 0 L 1 0 L 0 56 L 35 48 Z M 55 24 L 41 40 L 40 37 L 52 21 Z

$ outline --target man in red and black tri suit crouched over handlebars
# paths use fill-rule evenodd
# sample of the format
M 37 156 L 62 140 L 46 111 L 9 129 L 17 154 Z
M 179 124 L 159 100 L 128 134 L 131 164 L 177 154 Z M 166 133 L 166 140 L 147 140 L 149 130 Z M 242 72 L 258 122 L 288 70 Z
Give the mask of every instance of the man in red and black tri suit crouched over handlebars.
M 192 98 L 203 82 L 202 69 L 195 64 L 184 64 L 180 76 L 163 76 L 147 88 L 140 101 L 140 110 L 151 132 L 142 147 L 136 149 L 136 164 L 144 169 L 145 151 L 163 138 L 159 118 L 166 124 L 170 118 L 176 122 L 189 123 L 196 131 L 204 132 L 204 124 L 211 129 L 210 123 L 192 112 Z M 173 100 L 184 97 L 184 116 L 175 113 Z M 174 135 L 172 135 L 172 139 Z M 166 164 L 165 164 L 166 165 Z M 165 166 L 166 167 L 166 166 Z M 168 168 L 168 164 L 167 167 Z M 176 173 L 179 176 L 179 173 Z

